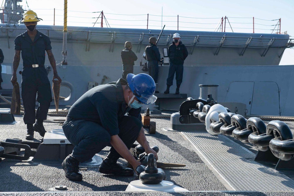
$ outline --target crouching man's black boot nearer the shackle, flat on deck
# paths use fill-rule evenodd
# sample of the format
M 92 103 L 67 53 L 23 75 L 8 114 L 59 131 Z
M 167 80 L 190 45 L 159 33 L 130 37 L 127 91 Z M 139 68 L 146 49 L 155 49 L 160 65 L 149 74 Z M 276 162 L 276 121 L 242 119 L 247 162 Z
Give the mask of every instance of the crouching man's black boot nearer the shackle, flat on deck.
M 118 158 L 116 156 L 111 155 L 109 152 L 106 158 L 102 161 L 99 172 L 103 174 L 113 174 L 117 176 L 132 176 L 134 175 L 134 170 L 128 167 L 122 167 L 118 165 Z

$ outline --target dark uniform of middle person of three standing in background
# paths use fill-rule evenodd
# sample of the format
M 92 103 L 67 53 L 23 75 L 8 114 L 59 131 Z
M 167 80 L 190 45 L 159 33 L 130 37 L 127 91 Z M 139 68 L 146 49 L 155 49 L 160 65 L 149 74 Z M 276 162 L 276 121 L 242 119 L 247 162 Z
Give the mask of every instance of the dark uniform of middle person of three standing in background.
M 158 78 L 158 61 L 160 61 L 160 53 L 155 44 L 150 43 L 145 48 L 147 67 L 149 76 L 151 76 L 155 83 L 157 83 Z

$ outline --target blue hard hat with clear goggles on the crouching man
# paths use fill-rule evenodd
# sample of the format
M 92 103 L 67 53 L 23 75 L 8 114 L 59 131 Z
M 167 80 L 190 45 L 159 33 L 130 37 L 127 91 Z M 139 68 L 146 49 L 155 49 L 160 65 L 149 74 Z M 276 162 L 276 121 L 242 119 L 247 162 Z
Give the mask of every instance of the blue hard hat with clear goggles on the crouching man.
M 151 76 L 146 73 L 139 73 L 137 75 L 129 73 L 127 81 L 131 91 L 139 101 L 146 105 L 156 101 L 157 97 L 153 95 L 155 92 L 155 82 Z

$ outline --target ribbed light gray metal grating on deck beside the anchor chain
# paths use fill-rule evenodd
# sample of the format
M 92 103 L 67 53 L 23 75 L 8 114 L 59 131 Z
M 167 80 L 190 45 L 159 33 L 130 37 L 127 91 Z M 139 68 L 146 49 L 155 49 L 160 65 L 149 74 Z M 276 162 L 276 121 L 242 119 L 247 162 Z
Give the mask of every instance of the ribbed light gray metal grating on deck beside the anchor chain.
M 224 135 L 182 132 L 218 174 L 237 191 L 294 191 L 294 181 L 252 160 L 255 154 Z

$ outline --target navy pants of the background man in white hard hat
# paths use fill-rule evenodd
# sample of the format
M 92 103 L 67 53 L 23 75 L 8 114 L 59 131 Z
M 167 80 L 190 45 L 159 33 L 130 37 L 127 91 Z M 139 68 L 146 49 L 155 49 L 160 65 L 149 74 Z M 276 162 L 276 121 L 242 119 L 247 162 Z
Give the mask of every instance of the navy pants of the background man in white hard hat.
M 183 81 L 183 71 L 184 71 L 184 65 L 176 65 L 172 62 L 169 63 L 169 69 L 168 69 L 168 77 L 166 79 L 166 84 L 172 86 L 173 85 L 173 78 L 176 73 L 176 84 L 181 85 Z

